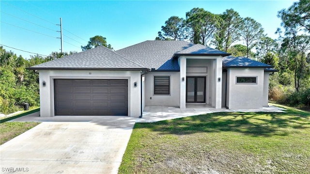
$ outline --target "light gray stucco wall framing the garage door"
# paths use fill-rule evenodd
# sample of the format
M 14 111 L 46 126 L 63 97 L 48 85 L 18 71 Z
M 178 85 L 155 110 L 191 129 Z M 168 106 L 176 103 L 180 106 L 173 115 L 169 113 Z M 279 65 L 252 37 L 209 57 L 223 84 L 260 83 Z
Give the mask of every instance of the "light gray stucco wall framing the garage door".
M 128 116 L 139 117 L 141 109 L 140 71 L 39 71 L 40 116 L 54 114 L 54 79 L 128 79 Z M 43 81 L 46 86 L 43 87 Z M 137 87 L 134 83 L 137 82 Z

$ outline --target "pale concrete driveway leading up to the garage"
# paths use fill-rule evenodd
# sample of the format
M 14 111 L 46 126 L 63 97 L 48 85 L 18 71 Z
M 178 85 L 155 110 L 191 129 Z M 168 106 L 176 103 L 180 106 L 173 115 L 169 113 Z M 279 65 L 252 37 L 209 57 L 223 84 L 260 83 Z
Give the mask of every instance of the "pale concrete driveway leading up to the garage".
M 136 119 L 55 116 L 50 121 L 0 146 L 1 174 L 116 174 Z

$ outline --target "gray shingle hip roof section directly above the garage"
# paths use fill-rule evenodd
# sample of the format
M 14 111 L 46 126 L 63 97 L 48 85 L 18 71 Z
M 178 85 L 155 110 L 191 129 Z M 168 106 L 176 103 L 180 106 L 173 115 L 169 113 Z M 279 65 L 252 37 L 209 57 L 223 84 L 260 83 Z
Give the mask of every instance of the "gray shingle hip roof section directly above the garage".
M 139 63 L 106 48 L 99 46 L 74 55 L 48 61 L 29 68 L 44 69 L 145 69 Z

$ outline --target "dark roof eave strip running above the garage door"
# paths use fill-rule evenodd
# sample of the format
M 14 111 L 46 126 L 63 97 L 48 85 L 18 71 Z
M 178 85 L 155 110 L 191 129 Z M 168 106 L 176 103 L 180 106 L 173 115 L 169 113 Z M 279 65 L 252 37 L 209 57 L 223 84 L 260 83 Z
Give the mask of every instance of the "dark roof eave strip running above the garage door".
M 109 70 L 109 71 L 150 71 L 148 68 L 37 68 L 28 67 L 27 70 Z

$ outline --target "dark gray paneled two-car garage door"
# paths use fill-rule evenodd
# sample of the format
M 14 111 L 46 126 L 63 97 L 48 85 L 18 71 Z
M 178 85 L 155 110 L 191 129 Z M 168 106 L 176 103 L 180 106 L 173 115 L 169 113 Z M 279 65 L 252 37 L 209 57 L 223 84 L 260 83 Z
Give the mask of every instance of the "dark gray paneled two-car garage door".
M 54 79 L 55 116 L 127 116 L 128 80 Z

